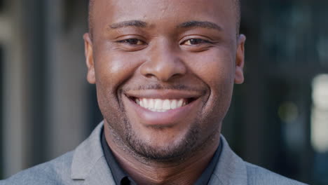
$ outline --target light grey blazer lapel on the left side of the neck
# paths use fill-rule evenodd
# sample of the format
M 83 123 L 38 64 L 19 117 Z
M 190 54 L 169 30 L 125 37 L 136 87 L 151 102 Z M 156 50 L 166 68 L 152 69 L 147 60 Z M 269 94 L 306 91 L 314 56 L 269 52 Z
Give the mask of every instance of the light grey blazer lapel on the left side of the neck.
M 74 151 L 71 164 L 71 179 L 74 181 L 93 185 L 115 185 L 100 142 L 103 125 L 103 122 L 97 125 L 90 137 Z

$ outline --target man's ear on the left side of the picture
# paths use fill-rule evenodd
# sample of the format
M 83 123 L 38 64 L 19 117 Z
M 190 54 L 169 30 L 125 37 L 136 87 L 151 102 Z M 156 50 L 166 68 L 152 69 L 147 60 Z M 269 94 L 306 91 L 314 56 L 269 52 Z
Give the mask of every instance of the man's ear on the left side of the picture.
M 90 34 L 83 35 L 84 52 L 86 55 L 86 65 L 88 67 L 87 80 L 91 84 L 95 84 L 95 62 L 93 61 L 93 42 L 90 39 Z

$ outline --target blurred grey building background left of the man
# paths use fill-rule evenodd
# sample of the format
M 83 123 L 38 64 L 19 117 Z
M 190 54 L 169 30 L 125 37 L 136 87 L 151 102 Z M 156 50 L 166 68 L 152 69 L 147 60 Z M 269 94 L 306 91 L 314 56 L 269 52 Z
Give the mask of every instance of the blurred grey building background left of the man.
M 88 1 L 0 1 L 1 174 L 74 149 L 99 115 L 83 52 Z

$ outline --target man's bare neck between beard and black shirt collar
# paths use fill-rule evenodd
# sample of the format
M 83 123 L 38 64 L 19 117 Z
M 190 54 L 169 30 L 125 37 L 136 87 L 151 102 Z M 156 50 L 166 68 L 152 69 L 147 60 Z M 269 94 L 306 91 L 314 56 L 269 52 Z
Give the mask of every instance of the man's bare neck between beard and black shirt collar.
M 121 167 L 137 184 L 194 184 L 207 167 L 219 146 L 219 132 L 207 139 L 201 149 L 190 152 L 179 161 L 147 160 L 134 153 L 128 146 L 115 141 L 108 127 L 104 127 L 107 144 Z

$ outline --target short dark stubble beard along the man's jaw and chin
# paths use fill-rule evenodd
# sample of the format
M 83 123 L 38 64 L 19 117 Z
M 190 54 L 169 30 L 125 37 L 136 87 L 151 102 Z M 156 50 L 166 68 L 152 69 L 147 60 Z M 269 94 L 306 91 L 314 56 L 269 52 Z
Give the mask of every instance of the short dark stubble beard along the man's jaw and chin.
M 191 123 L 191 127 L 182 139 L 175 141 L 175 144 L 168 144 L 165 147 L 152 146 L 138 136 L 136 130 L 132 128 L 132 124 L 128 120 L 123 102 L 118 102 L 120 106 L 116 111 L 121 112 L 121 115 L 118 115 L 116 118 L 109 115 L 109 120 L 107 120 L 109 130 L 111 130 L 110 132 L 113 134 L 116 144 L 123 147 L 126 152 L 130 152 L 133 156 L 149 162 L 182 163 L 184 160 L 191 157 L 195 151 L 208 146 L 208 144 L 212 142 L 212 139 L 219 133 L 219 128 L 213 128 L 211 135 L 205 138 L 201 137 L 203 134 L 202 128 L 204 126 L 206 127 L 206 125 L 210 125 L 207 122 L 213 120 L 209 118 L 208 115 L 202 118 L 204 114 L 199 111 L 196 119 Z M 112 125 L 116 125 L 116 127 Z M 202 125 L 202 127 L 200 127 L 200 125 Z

